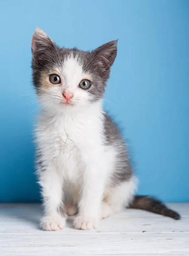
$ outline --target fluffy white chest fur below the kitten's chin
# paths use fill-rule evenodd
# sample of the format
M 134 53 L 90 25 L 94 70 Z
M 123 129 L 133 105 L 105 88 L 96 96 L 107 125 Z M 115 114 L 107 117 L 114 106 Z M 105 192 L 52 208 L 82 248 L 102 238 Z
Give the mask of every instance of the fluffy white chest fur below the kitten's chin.
M 103 146 L 103 114 L 99 105 L 54 115 L 41 113 L 36 136 L 45 161 L 53 161 L 66 180 L 78 180 L 82 157 Z

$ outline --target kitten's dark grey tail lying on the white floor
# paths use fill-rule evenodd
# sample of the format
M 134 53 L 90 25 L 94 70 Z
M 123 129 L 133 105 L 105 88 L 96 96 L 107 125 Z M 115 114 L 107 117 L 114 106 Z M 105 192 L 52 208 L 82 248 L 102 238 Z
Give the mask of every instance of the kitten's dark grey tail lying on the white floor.
M 135 195 L 135 198 L 129 205 L 129 208 L 142 209 L 148 212 L 154 212 L 160 215 L 164 215 L 175 220 L 180 220 L 180 215 L 177 212 L 167 208 L 165 204 L 163 204 L 156 198 L 145 195 Z

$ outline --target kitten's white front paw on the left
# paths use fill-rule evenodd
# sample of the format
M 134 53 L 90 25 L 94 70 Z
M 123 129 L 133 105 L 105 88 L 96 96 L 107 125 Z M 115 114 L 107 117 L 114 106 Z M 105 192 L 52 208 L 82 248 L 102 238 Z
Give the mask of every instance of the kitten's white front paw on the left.
M 41 221 L 41 229 L 47 231 L 57 231 L 65 227 L 66 218 L 57 216 L 46 216 Z

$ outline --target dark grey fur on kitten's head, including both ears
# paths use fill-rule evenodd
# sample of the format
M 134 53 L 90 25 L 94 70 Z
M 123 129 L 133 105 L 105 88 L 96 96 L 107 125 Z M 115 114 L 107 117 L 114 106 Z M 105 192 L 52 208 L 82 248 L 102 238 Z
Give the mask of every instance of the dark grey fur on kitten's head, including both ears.
M 62 67 L 64 60 L 73 57 L 82 63 L 83 71 L 92 75 L 92 85 L 87 93 L 92 95 L 91 102 L 103 97 L 110 68 L 117 55 L 117 41 L 111 41 L 92 52 L 80 51 L 77 48 L 58 47 L 46 34 L 37 29 L 32 39 L 33 84 L 39 89 L 43 72 L 50 73 L 54 67 Z M 39 92 L 39 90 L 37 90 Z

